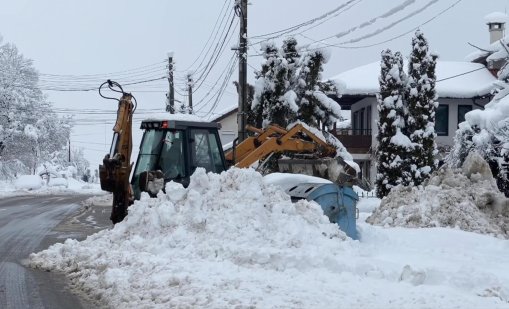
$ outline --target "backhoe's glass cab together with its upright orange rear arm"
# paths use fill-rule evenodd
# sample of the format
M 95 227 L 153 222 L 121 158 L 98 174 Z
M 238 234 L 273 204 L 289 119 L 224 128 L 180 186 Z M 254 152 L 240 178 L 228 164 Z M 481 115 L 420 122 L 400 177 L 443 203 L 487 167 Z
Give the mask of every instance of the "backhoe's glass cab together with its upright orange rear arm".
M 104 87 L 121 94 L 121 98 L 107 97 Z M 127 208 L 139 199 L 141 192 L 155 196 L 164 190 L 165 183 L 176 181 L 189 185 L 189 178 L 197 167 L 207 172 L 221 173 L 226 169 L 223 150 L 219 140 L 217 123 L 187 121 L 190 115 L 164 114 L 160 118 L 145 120 L 145 130 L 140 152 L 132 170 L 132 116 L 136 110 L 136 99 L 124 92 L 114 81 L 106 81 L 99 87 L 105 99 L 118 102 L 117 120 L 113 127 L 110 152 L 99 165 L 101 189 L 113 193 L 110 219 L 113 224 L 122 221 Z M 189 116 L 189 117 L 187 117 Z

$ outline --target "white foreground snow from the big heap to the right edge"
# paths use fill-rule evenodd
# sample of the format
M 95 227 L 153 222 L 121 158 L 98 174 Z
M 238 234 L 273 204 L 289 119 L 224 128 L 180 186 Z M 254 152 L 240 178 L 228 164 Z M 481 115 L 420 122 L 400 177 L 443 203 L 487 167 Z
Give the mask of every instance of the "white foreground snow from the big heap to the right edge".
M 121 308 L 507 308 L 509 243 L 445 228 L 365 222 L 345 238 L 312 202 L 252 170 L 192 176 L 126 220 L 32 254 L 30 265 Z M 170 193 L 171 192 L 171 193 Z

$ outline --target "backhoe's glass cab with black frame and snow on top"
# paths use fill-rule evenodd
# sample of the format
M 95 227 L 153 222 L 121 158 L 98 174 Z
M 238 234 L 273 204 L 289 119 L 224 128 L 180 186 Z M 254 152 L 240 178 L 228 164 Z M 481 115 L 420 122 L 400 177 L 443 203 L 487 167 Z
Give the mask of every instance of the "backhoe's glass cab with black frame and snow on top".
M 131 180 L 136 199 L 144 191 L 155 196 L 169 181 L 187 187 L 197 167 L 214 173 L 226 169 L 218 123 L 172 120 L 171 117 L 141 123 L 145 132 Z

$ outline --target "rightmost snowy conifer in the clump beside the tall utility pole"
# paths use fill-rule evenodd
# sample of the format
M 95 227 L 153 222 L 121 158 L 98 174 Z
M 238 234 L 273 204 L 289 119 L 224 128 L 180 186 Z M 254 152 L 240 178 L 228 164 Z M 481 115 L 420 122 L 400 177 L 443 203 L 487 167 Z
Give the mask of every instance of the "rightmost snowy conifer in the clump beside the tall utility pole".
M 338 94 L 332 81 L 322 81 L 323 65 L 330 53 L 312 48 L 302 56 L 295 92 L 299 99 L 299 119 L 315 128 L 329 127 L 341 119 L 341 107 L 328 95 Z

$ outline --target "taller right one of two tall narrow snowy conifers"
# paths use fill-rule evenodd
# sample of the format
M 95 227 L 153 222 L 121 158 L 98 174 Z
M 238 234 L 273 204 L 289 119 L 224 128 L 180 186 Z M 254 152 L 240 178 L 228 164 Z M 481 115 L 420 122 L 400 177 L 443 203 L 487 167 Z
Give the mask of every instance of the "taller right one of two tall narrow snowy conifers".
M 405 99 L 408 106 L 407 133 L 414 144 L 411 170 L 414 185 L 429 178 L 436 168 L 435 111 L 438 107 L 436 56 L 429 52 L 428 41 L 420 30 L 412 38 L 408 60 L 408 82 Z

